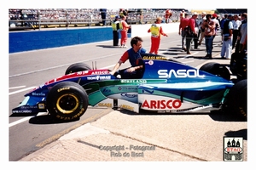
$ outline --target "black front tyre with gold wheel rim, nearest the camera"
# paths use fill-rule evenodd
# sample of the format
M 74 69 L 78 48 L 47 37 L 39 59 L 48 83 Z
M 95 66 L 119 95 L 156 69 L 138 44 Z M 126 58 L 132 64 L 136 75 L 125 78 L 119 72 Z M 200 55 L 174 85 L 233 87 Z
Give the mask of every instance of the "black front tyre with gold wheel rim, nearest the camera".
M 60 82 L 50 90 L 46 99 L 49 115 L 62 121 L 73 121 L 88 108 L 88 95 L 76 82 Z

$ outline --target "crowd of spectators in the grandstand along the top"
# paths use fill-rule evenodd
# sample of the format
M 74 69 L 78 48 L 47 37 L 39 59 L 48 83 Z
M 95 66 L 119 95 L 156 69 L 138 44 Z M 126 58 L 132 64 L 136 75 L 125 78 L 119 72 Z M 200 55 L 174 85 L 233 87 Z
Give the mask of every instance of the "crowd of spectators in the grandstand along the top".
M 166 9 L 128 9 L 129 20 L 155 20 L 163 17 Z M 178 20 L 180 11 L 172 9 L 173 20 Z M 101 20 L 99 8 L 26 8 L 9 9 L 9 20 L 24 20 L 22 15 L 32 16 L 33 20 Z M 119 15 L 119 9 L 107 9 L 106 20 L 113 20 L 115 15 Z

